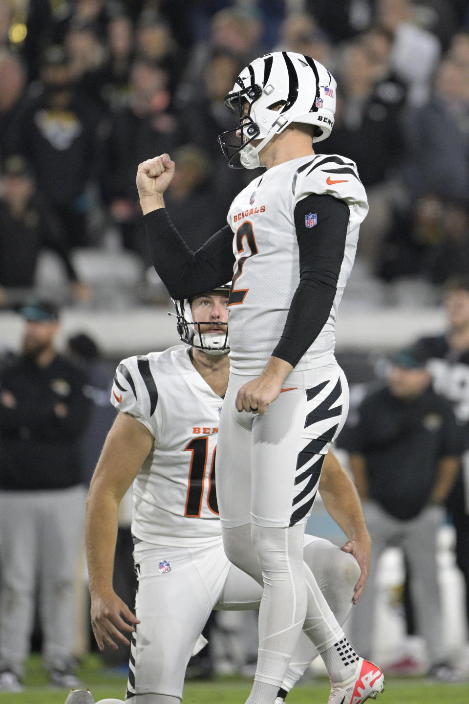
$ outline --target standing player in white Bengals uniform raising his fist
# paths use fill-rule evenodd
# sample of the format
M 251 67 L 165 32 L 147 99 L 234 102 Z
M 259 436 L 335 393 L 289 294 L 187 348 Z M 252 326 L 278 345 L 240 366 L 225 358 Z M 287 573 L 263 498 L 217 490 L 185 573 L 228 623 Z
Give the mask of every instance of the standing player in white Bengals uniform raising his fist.
M 193 253 L 163 200 L 167 154 L 139 165 L 153 264 L 173 298 L 231 280 L 231 375 L 220 420 L 218 500 L 226 555 L 259 579 L 259 653 L 248 704 L 273 704 L 303 629 L 318 648 L 330 704 L 383 691 L 354 652 L 303 562 L 303 532 L 323 458 L 348 408 L 334 325 L 368 204 L 356 165 L 314 153 L 333 127 L 336 84 L 309 56 L 252 61 L 219 137 L 229 165 L 266 168 L 233 201 L 228 225 Z

